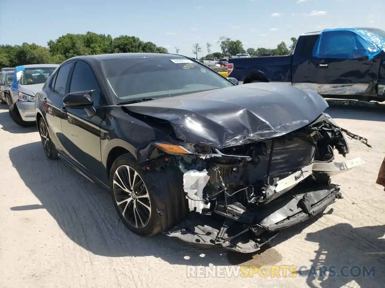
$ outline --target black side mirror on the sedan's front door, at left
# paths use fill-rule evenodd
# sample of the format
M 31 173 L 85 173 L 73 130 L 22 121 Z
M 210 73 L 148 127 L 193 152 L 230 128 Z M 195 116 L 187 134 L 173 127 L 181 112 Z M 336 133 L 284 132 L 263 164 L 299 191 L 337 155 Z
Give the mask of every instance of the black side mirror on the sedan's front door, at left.
M 63 97 L 63 104 L 66 108 L 84 109 L 89 117 L 95 116 L 96 110 L 91 100 L 92 93 L 95 90 L 79 91 L 68 93 Z

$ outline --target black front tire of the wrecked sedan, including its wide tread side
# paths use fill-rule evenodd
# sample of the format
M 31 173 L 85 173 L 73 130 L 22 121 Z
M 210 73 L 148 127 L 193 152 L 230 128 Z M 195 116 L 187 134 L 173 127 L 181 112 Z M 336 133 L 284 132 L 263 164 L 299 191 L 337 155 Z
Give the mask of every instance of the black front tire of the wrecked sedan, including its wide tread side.
M 115 175 L 117 170 L 119 172 L 120 179 Z M 139 192 L 138 188 L 133 189 L 138 192 L 135 195 L 132 194 L 130 189 L 119 189 L 122 181 L 129 179 L 127 176 L 124 177 L 124 173 L 126 173 L 128 170 L 131 171 L 131 175 L 133 175 L 136 171 L 136 177 L 140 176 L 142 184 L 144 184 L 140 185 L 141 191 Z M 126 180 L 123 180 L 122 178 Z M 140 181 L 137 183 L 140 183 Z M 129 186 L 127 185 L 127 181 L 123 183 L 123 185 L 125 187 Z M 134 186 L 139 187 L 138 184 Z M 112 164 L 110 170 L 110 191 L 115 209 L 123 223 L 132 232 L 143 237 L 149 237 L 161 231 L 167 231 L 171 229 L 174 227 L 174 225 L 182 222 L 182 220 L 186 218 L 186 215 L 189 212 L 186 197 L 183 195 L 184 192 L 181 172 L 178 170 L 173 170 L 172 167 L 168 167 L 162 171 L 144 170 L 139 167 L 136 159 L 134 159 L 131 154 L 124 154 L 118 157 Z M 128 196 L 129 193 L 131 196 Z M 146 193 L 148 193 L 148 199 L 144 197 Z M 139 196 L 141 197 L 141 200 L 137 200 L 139 199 Z M 124 200 L 125 198 L 126 200 Z M 123 200 L 125 202 L 121 202 Z M 118 205 L 117 202 L 121 202 L 121 204 Z M 144 202 L 144 204 L 146 204 L 150 209 L 146 209 L 144 206 L 142 206 L 140 204 L 141 202 Z M 125 204 L 128 206 L 126 207 Z M 143 225 L 136 225 L 136 227 L 134 225 L 134 204 L 139 207 L 139 210 L 137 209 L 137 213 L 141 212 L 141 222 L 145 224 L 144 227 Z M 123 215 L 125 207 L 126 217 Z M 127 211 L 129 214 L 127 214 Z M 160 216 L 158 211 L 162 211 L 163 215 Z

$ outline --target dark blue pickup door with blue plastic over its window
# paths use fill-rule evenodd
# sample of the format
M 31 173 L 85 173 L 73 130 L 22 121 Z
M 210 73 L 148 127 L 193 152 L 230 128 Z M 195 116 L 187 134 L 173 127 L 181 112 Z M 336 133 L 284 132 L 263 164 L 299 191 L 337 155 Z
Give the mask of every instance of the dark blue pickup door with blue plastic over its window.
M 318 90 L 324 96 L 375 94 L 381 58 L 369 60 L 365 40 L 352 31 L 328 31 L 319 43 Z

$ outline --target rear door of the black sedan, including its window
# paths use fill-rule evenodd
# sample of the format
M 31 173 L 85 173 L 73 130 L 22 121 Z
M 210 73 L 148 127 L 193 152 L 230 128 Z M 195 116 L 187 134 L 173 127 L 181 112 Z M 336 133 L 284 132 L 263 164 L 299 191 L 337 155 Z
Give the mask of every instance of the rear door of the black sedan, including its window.
M 52 142 L 54 142 L 56 148 L 62 152 L 62 142 L 64 139 L 62 137 L 61 118 L 65 117 L 62 111 L 63 97 L 68 93 L 69 75 L 73 65 L 74 61 L 71 61 L 58 68 L 50 82 L 47 83 L 47 98 L 42 99 L 42 106 L 45 110 L 45 120 L 47 121 Z

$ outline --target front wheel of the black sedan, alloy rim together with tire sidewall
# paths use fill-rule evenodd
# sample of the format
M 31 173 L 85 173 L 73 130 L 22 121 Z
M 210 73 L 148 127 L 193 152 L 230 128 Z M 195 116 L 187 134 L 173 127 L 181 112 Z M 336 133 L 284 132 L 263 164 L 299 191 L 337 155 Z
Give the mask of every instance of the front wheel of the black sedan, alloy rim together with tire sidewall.
M 160 219 L 146 181 L 146 172 L 127 155 L 116 159 L 110 172 L 114 206 L 123 223 L 144 237 L 160 232 Z

